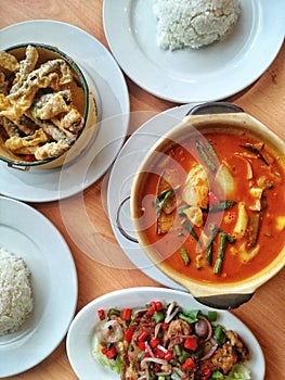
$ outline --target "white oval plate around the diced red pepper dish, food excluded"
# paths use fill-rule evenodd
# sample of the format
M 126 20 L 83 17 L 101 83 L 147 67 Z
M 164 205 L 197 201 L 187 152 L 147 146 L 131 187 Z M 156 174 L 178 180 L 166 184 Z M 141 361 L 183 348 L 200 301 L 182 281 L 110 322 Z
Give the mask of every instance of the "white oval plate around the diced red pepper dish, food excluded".
M 85 380 L 117 380 L 119 376 L 109 368 L 102 367 L 92 356 L 94 347 L 94 330 L 99 322 L 98 309 L 111 307 L 140 307 L 151 301 L 177 301 L 185 309 L 208 311 L 190 294 L 159 288 L 130 288 L 105 294 L 86 305 L 73 320 L 67 333 L 66 346 L 70 365 L 79 379 Z M 252 379 L 262 380 L 265 364 L 261 347 L 250 330 L 229 312 L 218 312 L 218 322 L 226 329 L 235 330 L 248 345 L 250 360 L 247 366 L 251 370 Z

